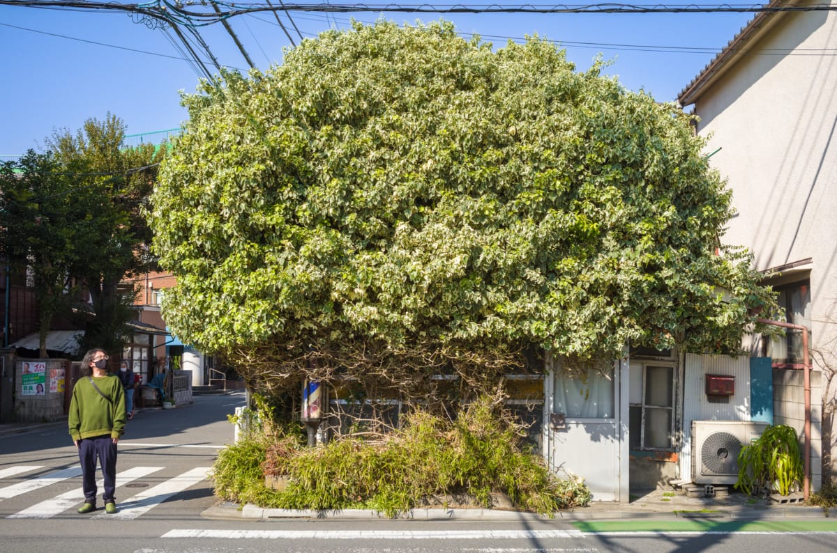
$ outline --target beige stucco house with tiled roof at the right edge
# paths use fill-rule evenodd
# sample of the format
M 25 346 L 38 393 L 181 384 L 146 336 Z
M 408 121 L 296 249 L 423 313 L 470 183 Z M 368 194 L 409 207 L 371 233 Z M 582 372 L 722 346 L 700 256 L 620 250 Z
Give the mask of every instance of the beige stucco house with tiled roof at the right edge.
M 788 5 L 802 4 L 771 3 Z M 809 329 L 809 383 L 802 331 L 747 346 L 771 360 L 776 423 L 802 436 L 818 489 L 837 475 L 837 13 L 757 14 L 678 100 L 732 190 L 721 240 L 753 252 L 787 322 Z M 788 413 L 784 386 L 800 382 L 810 406 Z

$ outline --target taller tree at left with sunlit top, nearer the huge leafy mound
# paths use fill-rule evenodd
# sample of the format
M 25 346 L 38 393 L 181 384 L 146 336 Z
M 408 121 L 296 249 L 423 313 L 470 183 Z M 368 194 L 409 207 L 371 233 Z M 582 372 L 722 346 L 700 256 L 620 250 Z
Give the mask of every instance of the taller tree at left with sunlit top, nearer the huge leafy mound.
M 62 165 L 84 168 L 76 178 L 97 199 L 87 214 L 89 239 L 80 244 L 72 267 L 90 292 L 93 307 L 93 316 L 84 318 L 82 350 L 121 350 L 133 297 L 126 297 L 118 285 L 146 271 L 152 261 L 147 254 L 151 232 L 141 208 L 151 195 L 165 149 L 126 147 L 125 134 L 122 120 L 107 114 L 103 121 L 87 119 L 75 134 L 64 129 L 47 140 Z

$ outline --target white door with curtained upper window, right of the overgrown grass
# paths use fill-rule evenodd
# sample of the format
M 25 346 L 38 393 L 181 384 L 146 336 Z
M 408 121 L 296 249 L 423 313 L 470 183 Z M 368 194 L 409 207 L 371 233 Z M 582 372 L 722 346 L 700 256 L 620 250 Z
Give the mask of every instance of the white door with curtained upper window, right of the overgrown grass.
M 620 397 L 627 392 L 628 360 L 609 370 L 567 375 L 552 363 L 547 378 L 545 441 L 550 468 L 581 476 L 594 501 L 628 501 L 628 415 Z M 627 405 L 625 405 L 627 407 Z

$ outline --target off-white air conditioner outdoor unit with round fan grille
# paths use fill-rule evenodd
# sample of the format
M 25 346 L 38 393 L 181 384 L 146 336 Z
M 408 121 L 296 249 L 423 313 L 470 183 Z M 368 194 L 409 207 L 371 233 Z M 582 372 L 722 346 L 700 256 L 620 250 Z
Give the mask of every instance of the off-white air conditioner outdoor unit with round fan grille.
M 695 484 L 735 484 L 738 453 L 767 427 L 749 420 L 691 421 L 691 479 Z

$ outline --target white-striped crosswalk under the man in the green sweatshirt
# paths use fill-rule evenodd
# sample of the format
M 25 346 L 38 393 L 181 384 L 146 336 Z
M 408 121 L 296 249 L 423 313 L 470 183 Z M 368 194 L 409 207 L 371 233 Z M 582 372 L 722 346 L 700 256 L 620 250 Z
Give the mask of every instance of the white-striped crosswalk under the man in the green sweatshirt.
M 74 512 L 82 503 L 84 503 L 85 495 L 81 488 L 81 468 L 80 466 L 70 466 L 63 469 L 57 469 L 48 474 L 40 474 L 33 476 L 33 478 L 26 478 L 25 474 L 36 474 L 35 471 L 43 469 L 42 465 L 18 465 L 5 469 L 0 469 L 0 507 L 2 507 L 5 500 L 18 498 L 36 492 L 38 490 L 48 490 L 49 486 L 57 485 L 65 481 L 72 481 L 78 484 L 78 487 L 69 491 L 60 491 L 57 495 L 50 497 L 47 500 L 41 500 L 34 505 L 29 505 L 23 510 L 18 510 L 11 515 L 5 515 L 7 519 L 49 519 L 54 516 L 61 515 L 65 511 Z M 187 490 L 193 485 L 198 484 L 204 479 L 207 479 L 211 471 L 211 467 L 196 467 L 187 470 L 182 474 L 177 474 L 171 478 L 162 480 L 159 484 L 151 486 L 146 490 L 141 490 L 136 495 L 121 499 L 125 495 L 126 485 L 131 484 L 138 479 L 146 478 L 147 476 L 157 475 L 159 471 L 164 470 L 163 467 L 146 467 L 137 466 L 130 469 L 122 470 L 116 474 L 116 496 L 119 511 L 115 515 L 106 515 L 104 511 L 92 518 L 108 518 L 116 520 L 133 520 L 141 515 L 146 514 L 149 510 L 163 501 L 168 500 L 174 495 Z M 3 481 L 8 479 L 18 479 L 19 481 L 3 486 Z M 97 482 L 99 489 L 99 499 L 103 490 L 103 482 L 101 479 Z M 64 485 L 66 488 L 66 485 Z M 8 511 L 7 511 L 8 512 Z

